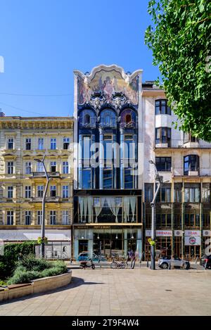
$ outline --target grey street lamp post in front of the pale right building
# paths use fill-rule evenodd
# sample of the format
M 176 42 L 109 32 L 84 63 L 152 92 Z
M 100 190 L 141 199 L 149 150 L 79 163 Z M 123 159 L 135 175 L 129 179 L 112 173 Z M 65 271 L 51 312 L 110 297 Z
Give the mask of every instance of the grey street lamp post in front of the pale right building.
M 156 222 L 155 222 L 155 201 L 156 198 L 158 196 L 158 192 L 160 190 L 160 186 L 162 184 L 162 177 L 160 177 L 160 175 L 158 174 L 158 170 L 157 167 L 155 165 L 155 163 L 153 162 L 153 160 L 149 160 L 148 163 L 153 164 L 155 167 L 155 181 L 158 181 L 158 186 L 157 189 L 155 191 L 155 194 L 153 196 L 153 201 L 151 201 L 151 208 L 152 208 L 152 222 L 151 222 L 151 240 L 155 241 L 155 227 L 156 227 Z M 155 245 L 152 244 L 151 245 L 151 269 L 155 269 Z

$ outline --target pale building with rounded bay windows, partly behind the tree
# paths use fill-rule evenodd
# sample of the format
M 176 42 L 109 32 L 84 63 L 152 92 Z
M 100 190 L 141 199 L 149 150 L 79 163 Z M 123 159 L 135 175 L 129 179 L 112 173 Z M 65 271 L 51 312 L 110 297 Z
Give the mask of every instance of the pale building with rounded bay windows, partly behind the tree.
M 156 203 L 156 249 L 195 259 L 211 243 L 211 144 L 175 129 L 172 122 L 178 119 L 167 106 L 165 92 L 153 82 L 142 87 L 143 126 L 139 134 L 143 132 L 146 258 L 150 258 L 150 201 L 155 180 L 154 167 L 148 163 L 152 159 L 164 181 Z

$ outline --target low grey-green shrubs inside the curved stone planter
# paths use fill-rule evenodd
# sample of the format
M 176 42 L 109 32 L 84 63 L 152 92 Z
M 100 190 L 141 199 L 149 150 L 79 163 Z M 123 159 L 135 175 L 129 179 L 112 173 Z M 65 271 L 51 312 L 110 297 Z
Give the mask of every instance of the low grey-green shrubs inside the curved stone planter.
M 13 277 L 8 279 L 7 283 L 29 283 L 33 279 L 56 276 L 65 272 L 68 272 L 68 269 L 63 261 L 49 262 L 29 255 L 16 263 Z

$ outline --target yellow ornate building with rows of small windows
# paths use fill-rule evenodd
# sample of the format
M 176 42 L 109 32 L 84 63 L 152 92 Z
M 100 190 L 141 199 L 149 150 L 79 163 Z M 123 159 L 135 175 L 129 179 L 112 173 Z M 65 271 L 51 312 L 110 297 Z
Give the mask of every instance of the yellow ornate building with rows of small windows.
M 70 258 L 73 120 L 69 117 L 0 119 L 0 238 L 6 242 L 41 236 L 41 199 L 46 179 L 48 258 Z

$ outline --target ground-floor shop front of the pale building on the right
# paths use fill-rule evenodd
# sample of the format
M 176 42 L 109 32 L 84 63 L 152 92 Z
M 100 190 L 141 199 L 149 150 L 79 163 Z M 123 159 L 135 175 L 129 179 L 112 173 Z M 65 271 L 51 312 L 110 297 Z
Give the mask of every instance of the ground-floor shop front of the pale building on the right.
M 146 260 L 151 259 L 151 246 L 148 239 L 151 230 L 145 231 L 144 255 Z M 202 255 L 211 252 L 210 230 L 157 230 L 156 231 L 156 258 L 162 255 L 177 255 L 179 258 L 196 260 Z

